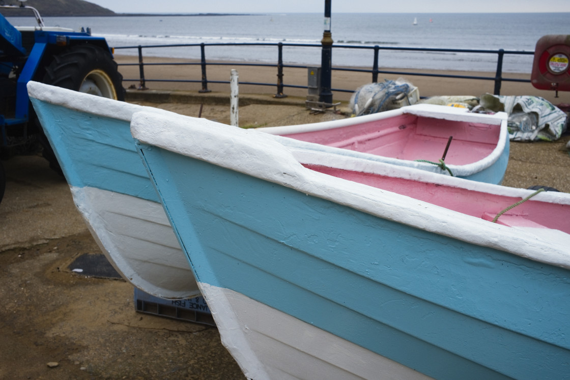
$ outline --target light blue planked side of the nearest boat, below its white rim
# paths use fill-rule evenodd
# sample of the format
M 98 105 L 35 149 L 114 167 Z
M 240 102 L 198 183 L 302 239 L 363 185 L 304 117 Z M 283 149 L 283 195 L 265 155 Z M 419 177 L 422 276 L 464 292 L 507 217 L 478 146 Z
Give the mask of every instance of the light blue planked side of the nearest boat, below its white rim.
M 434 378 L 570 376 L 568 269 L 138 144 L 200 283 Z

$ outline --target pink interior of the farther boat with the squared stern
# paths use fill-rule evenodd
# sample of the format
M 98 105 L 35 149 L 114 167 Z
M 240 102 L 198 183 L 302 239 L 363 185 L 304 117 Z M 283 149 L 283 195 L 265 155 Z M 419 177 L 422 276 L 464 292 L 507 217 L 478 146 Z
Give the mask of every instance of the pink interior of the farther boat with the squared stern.
M 434 162 L 442 158 L 447 141 L 453 136 L 445 162 L 467 165 L 489 156 L 498 144 L 499 135 L 500 125 L 404 113 L 363 124 L 282 136 L 400 160 Z

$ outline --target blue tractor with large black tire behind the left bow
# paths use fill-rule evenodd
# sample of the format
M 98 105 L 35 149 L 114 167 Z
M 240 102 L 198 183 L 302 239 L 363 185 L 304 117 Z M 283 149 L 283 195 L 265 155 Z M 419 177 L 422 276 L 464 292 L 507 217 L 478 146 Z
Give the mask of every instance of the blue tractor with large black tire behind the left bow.
M 46 27 L 38 11 L 24 5 L 3 5 L 0 0 L 0 158 L 42 152 L 52 169 L 60 171 L 47 142 L 26 84 L 30 80 L 110 99 L 124 100 L 123 76 L 104 38 L 89 29 L 73 31 Z M 37 25 L 14 27 L 3 9 L 26 9 Z M 0 202 L 6 185 L 0 161 Z

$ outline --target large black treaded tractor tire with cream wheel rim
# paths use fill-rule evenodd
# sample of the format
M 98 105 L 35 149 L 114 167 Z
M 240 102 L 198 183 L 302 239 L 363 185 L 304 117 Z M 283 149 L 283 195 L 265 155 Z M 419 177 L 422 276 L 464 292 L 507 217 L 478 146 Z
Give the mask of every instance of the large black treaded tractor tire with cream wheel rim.
M 107 50 L 92 44 L 72 46 L 62 54 L 54 56 L 46 68 L 42 83 L 108 99 L 125 100 L 123 75 L 117 70 L 113 56 Z M 50 162 L 52 169 L 62 174 L 54 150 L 43 130 L 40 133 L 40 142 L 43 146 L 43 157 Z

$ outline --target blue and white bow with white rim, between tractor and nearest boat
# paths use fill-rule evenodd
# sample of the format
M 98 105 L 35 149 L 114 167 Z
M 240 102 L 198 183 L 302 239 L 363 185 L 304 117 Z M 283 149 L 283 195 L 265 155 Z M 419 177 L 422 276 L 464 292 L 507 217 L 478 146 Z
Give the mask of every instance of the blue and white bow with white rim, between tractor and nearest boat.
M 117 272 L 154 296 L 199 295 L 129 130 L 145 108 L 32 82 L 28 92 L 75 205 Z

